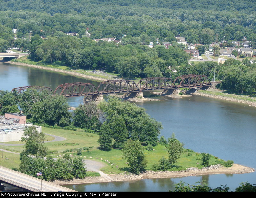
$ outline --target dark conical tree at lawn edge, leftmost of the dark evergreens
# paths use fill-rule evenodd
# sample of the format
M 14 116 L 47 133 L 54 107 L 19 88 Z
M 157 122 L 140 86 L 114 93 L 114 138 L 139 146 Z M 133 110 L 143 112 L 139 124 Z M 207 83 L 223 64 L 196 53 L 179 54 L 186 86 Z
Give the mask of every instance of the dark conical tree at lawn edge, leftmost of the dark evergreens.
M 100 132 L 99 132 L 98 149 L 105 150 L 105 151 L 111 150 L 112 136 L 113 136 L 113 131 L 110 129 L 110 126 L 107 124 L 102 125 L 100 127 Z

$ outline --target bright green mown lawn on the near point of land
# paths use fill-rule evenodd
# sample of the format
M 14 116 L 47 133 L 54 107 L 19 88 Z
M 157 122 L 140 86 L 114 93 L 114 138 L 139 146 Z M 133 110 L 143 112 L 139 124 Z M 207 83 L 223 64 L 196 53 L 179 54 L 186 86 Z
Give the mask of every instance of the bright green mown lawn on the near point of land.
M 123 154 L 121 150 L 112 149 L 111 151 L 102 151 L 97 149 L 97 146 L 98 146 L 97 141 L 99 138 L 97 134 L 85 133 L 84 130 L 82 129 L 77 129 L 77 131 L 69 131 L 69 130 L 42 127 L 42 131 L 44 133 L 58 135 L 61 137 L 65 137 L 67 139 L 64 141 L 45 143 L 45 146 L 48 146 L 51 151 L 53 150 L 58 151 L 58 153 L 49 154 L 48 156 L 51 156 L 53 158 L 62 158 L 63 155 L 65 154 L 63 153 L 63 151 L 66 149 L 76 149 L 81 147 L 93 146 L 93 149 L 90 149 L 89 152 L 87 152 L 86 150 L 82 150 L 81 156 L 83 158 L 86 156 L 86 159 L 88 159 L 89 157 L 92 157 L 92 160 L 102 161 L 103 163 L 105 163 L 106 166 L 102 168 L 104 170 L 103 172 L 122 173 L 124 171 L 128 171 L 129 169 L 128 164 L 126 164 L 126 160 L 123 159 Z M 64 145 L 65 143 L 78 143 L 79 145 L 65 146 Z M 23 149 L 23 146 L 4 146 L 4 149 L 21 152 Z M 145 150 L 145 156 L 148 160 L 147 170 L 150 170 L 153 164 L 158 163 L 158 161 L 162 156 L 168 158 L 168 152 L 165 146 L 159 144 L 159 145 L 156 145 L 154 149 L 155 149 L 154 151 Z M 70 155 L 72 154 L 72 152 L 67 152 L 67 154 Z M 77 152 L 74 150 L 73 154 L 75 156 Z M 18 164 L 20 163 L 19 155 L 6 153 L 6 156 L 9 158 L 9 160 L 2 159 L 2 161 L 0 161 L 0 165 L 8 168 L 18 167 Z M 192 156 L 187 156 L 186 153 L 183 153 L 178 163 L 175 164 L 175 167 L 173 167 L 172 170 L 182 170 L 191 166 L 196 167 L 200 164 L 200 161 L 197 160 L 198 157 L 201 158 L 202 157 L 201 154 L 199 156 L 196 156 L 195 153 L 192 153 Z M 100 160 L 101 158 L 103 160 Z M 108 160 L 111 163 L 114 163 L 114 165 L 111 166 L 111 164 L 107 163 L 105 160 Z M 212 157 L 210 164 L 214 163 L 214 161 L 215 159 Z M 199 164 L 197 164 L 198 162 Z

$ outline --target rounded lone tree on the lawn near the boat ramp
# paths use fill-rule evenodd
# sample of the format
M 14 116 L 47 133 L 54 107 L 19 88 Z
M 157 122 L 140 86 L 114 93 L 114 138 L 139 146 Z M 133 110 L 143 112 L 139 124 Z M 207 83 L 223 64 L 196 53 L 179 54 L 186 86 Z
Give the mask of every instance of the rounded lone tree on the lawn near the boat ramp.
M 140 144 L 140 141 L 133 141 L 129 139 L 122 149 L 124 158 L 127 159 L 129 163 L 129 171 L 131 173 L 139 174 L 141 171 L 145 170 L 147 166 L 147 160 L 144 155 L 144 148 Z

